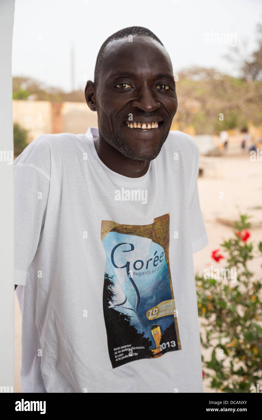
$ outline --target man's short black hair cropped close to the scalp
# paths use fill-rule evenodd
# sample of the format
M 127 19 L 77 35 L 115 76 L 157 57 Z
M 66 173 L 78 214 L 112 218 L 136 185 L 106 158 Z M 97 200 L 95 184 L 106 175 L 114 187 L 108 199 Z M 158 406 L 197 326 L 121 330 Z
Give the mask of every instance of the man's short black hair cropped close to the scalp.
M 113 35 L 111 35 L 110 37 L 106 39 L 106 41 L 102 44 L 98 52 L 98 56 L 95 62 L 95 76 L 94 76 L 95 84 L 98 83 L 98 74 L 103 63 L 105 49 L 106 49 L 107 44 L 109 44 L 109 42 L 111 41 L 114 41 L 115 39 L 123 39 L 123 38 L 129 37 L 130 35 L 140 35 L 142 37 L 150 37 L 154 39 L 155 41 L 159 42 L 159 44 L 161 44 L 164 47 L 160 39 L 155 34 L 153 34 L 153 32 L 151 32 L 149 29 L 143 28 L 143 26 L 130 26 L 129 28 L 120 29 L 120 31 L 115 32 Z

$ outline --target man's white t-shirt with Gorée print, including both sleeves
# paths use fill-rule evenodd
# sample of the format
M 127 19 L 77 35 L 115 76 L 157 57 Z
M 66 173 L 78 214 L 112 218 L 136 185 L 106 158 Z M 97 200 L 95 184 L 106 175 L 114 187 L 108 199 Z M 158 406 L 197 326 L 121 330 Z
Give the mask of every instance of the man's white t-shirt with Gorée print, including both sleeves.
M 14 161 L 22 391 L 203 392 L 197 144 L 170 131 L 128 178 L 97 136 L 44 134 Z

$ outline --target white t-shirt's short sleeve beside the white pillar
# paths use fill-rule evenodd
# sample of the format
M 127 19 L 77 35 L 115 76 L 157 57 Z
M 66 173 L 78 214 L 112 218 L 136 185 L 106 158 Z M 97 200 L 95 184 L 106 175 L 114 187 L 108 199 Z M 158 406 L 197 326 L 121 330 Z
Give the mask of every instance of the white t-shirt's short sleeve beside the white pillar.
M 40 244 L 50 185 L 41 148 L 36 152 L 36 144 L 28 146 L 19 155 L 13 169 L 14 283 L 21 286 L 26 285 L 27 270 Z

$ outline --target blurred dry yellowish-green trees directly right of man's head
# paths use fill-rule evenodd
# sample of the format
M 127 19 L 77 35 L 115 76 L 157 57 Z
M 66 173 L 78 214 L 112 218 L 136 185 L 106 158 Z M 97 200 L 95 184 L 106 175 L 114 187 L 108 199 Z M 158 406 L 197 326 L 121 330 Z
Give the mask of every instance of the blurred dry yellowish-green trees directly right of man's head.
M 181 71 L 176 82 L 178 109 L 174 121 L 183 131 L 193 126 L 196 134 L 219 134 L 220 131 L 261 124 L 262 82 L 243 80 L 221 74 L 212 68 Z M 223 119 L 220 115 L 223 114 Z

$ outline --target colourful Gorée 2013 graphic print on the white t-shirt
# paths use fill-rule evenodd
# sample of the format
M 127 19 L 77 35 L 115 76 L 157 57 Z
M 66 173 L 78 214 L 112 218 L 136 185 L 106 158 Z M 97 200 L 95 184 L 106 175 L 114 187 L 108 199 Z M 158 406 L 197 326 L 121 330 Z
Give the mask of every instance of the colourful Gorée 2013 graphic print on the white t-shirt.
M 103 312 L 112 367 L 180 350 L 169 268 L 169 213 L 150 225 L 102 220 Z

